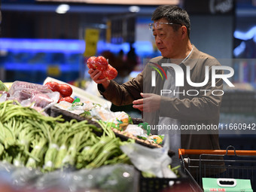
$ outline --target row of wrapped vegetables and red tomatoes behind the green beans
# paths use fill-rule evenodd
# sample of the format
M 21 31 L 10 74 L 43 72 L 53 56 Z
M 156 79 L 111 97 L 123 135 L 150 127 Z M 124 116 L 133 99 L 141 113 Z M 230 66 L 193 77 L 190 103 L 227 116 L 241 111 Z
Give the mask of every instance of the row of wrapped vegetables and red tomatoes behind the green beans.
M 48 81 L 44 85 L 14 81 L 10 90 L 2 95 L 2 100 L 17 100 L 20 105 L 35 108 L 44 115 L 47 108 L 56 107 L 84 117 L 83 120 L 94 122 L 102 120 L 102 122 L 111 123 L 111 129 L 116 136 L 123 139 L 136 139 L 137 142 L 149 147 L 161 147 L 163 136 L 151 136 L 147 123 L 133 124 L 129 114 L 123 111 L 110 111 L 109 108 L 98 103 L 81 102 L 79 98 L 72 98 L 72 93 L 73 90 L 69 84 L 56 81 Z

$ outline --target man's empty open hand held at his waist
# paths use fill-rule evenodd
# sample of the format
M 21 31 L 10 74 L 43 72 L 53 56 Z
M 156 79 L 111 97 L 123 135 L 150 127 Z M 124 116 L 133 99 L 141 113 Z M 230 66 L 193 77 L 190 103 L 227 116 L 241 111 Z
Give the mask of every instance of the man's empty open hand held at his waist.
M 133 101 L 133 108 L 139 111 L 153 112 L 160 108 L 161 96 L 153 93 L 141 93 L 143 99 Z

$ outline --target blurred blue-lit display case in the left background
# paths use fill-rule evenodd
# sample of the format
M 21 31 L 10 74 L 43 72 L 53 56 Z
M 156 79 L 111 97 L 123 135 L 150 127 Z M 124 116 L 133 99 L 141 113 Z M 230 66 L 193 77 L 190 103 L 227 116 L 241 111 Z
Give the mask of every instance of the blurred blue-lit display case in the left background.
M 70 82 L 81 76 L 84 41 L 0 39 L 2 79 L 41 84 L 47 76 Z

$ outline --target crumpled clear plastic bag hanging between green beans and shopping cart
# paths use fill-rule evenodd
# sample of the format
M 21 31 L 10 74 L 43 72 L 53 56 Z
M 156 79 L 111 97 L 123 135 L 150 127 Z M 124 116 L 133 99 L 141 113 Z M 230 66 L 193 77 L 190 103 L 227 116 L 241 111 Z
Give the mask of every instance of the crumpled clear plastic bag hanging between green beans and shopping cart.
M 174 172 L 169 169 L 172 158 L 169 157 L 168 137 L 163 148 L 148 148 L 137 143 L 120 146 L 133 165 L 142 172 L 149 172 L 157 178 L 177 178 Z

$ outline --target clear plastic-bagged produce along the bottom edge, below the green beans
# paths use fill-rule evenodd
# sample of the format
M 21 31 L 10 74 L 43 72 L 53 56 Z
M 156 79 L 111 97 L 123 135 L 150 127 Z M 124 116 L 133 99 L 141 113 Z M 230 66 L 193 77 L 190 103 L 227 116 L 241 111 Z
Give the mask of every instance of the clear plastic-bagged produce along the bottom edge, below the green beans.
M 59 169 L 47 173 L 0 163 L 0 179 L 5 179 L 5 183 L 19 189 L 17 191 L 29 192 L 136 192 L 139 186 L 138 171 L 122 163 L 98 169 Z

